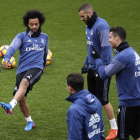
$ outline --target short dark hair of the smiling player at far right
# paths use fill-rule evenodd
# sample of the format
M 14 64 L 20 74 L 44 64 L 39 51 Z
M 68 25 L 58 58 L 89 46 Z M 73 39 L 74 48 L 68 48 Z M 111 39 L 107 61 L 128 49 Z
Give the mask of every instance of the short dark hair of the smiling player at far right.
M 126 30 L 123 27 L 121 27 L 121 26 L 112 27 L 110 29 L 110 32 L 112 32 L 114 37 L 116 37 L 118 35 L 122 41 L 125 41 L 125 39 L 126 39 Z

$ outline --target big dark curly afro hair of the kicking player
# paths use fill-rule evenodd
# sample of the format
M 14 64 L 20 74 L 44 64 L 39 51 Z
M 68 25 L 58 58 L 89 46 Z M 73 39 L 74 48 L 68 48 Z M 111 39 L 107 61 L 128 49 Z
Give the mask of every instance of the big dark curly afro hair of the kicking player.
M 39 19 L 40 25 L 42 25 L 46 19 L 44 14 L 41 13 L 39 10 L 37 10 L 37 9 L 28 10 L 28 11 L 26 11 L 26 14 L 22 17 L 23 24 L 27 27 L 27 25 L 29 23 L 29 19 L 35 19 L 35 18 Z

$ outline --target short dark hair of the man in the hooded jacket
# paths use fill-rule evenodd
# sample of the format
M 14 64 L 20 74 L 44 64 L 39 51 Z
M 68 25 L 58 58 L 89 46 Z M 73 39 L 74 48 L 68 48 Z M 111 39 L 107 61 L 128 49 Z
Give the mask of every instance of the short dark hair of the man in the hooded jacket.
M 67 85 L 78 92 L 84 88 L 84 78 L 79 73 L 71 73 L 67 76 Z

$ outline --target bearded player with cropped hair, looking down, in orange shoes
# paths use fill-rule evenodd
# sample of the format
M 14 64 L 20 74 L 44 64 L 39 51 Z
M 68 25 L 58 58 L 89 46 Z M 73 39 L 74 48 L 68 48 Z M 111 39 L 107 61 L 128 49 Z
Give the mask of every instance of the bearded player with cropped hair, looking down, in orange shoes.
M 87 74 L 88 90 L 94 94 L 101 102 L 111 124 L 111 130 L 106 140 L 117 137 L 117 124 L 114 116 L 113 107 L 108 100 L 109 86 L 111 77 L 102 80 L 97 72 L 95 60 L 91 56 L 92 45 L 101 55 L 104 66 L 106 67 L 113 59 L 111 45 L 108 42 L 110 27 L 108 23 L 98 17 L 92 5 L 83 4 L 79 8 L 81 21 L 86 24 L 87 52 L 85 64 L 82 67 L 82 74 Z

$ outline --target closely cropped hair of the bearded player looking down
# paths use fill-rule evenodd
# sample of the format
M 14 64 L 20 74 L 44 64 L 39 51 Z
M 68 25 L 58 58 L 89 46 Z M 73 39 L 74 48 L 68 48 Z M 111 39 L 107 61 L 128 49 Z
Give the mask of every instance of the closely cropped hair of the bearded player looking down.
M 88 13 L 88 11 L 90 11 L 90 10 L 91 10 L 92 12 L 94 12 L 94 9 L 93 9 L 92 5 L 91 5 L 91 4 L 88 4 L 88 3 L 82 4 L 82 5 L 80 6 L 78 12 L 80 12 L 80 11 L 82 11 L 82 10 L 83 10 L 85 13 Z

